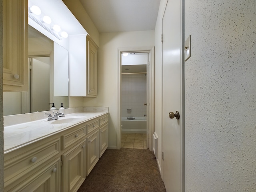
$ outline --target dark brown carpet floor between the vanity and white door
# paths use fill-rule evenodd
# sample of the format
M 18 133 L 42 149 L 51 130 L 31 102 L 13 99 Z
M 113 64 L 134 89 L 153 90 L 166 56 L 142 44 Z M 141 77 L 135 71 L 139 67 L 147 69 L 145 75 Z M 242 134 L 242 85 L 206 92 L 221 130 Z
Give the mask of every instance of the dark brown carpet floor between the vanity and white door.
M 166 192 L 154 153 L 106 150 L 78 192 Z

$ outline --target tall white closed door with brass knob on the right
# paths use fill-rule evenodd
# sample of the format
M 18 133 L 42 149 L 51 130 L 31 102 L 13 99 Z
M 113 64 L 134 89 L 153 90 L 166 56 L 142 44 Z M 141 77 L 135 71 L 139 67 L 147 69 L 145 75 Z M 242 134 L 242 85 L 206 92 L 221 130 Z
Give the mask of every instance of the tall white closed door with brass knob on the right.
M 163 180 L 167 192 L 182 191 L 182 122 L 169 112 L 182 113 L 180 0 L 168 0 L 163 27 Z

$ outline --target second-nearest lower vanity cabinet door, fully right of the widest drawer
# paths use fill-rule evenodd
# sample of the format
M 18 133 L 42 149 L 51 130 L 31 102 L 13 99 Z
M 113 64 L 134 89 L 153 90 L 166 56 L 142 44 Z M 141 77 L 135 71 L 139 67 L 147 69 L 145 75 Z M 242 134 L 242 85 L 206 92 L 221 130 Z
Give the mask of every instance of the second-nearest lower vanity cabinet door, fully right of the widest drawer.
M 62 191 L 77 191 L 84 182 L 85 149 L 86 143 L 82 142 L 62 155 Z

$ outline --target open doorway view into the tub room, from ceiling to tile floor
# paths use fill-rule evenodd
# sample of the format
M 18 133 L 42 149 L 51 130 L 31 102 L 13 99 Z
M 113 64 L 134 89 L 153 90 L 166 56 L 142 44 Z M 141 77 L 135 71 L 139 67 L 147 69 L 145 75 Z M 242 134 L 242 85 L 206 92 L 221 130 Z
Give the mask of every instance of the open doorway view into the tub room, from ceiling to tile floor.
M 149 52 L 122 53 L 122 148 L 149 148 L 148 76 Z

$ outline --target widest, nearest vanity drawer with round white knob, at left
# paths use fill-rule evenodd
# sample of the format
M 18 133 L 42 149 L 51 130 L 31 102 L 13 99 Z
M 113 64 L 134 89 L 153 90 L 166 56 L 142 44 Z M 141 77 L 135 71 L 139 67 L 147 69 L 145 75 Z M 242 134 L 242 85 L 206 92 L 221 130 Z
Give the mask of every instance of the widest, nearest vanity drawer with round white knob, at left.
M 41 140 L 4 155 L 4 185 L 27 175 L 60 153 L 60 138 Z

